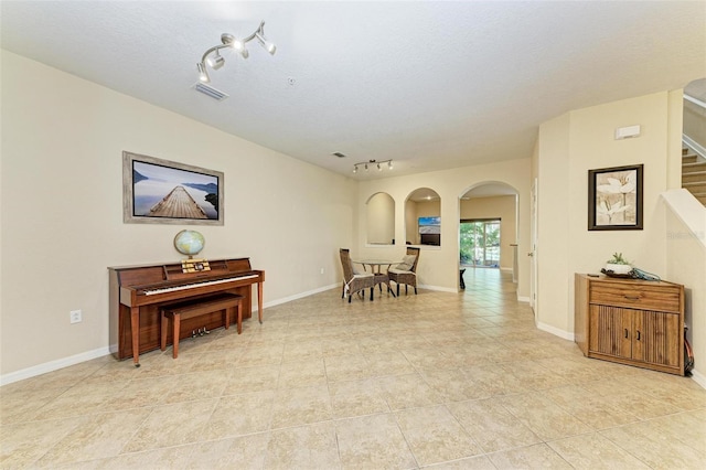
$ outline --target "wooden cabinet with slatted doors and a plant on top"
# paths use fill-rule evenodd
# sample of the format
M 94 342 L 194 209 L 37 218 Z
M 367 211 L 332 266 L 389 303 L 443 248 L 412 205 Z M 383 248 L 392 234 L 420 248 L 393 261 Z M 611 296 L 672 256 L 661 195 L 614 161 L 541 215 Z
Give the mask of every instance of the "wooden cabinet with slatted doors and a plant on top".
M 574 338 L 584 355 L 684 375 L 684 287 L 576 275 Z

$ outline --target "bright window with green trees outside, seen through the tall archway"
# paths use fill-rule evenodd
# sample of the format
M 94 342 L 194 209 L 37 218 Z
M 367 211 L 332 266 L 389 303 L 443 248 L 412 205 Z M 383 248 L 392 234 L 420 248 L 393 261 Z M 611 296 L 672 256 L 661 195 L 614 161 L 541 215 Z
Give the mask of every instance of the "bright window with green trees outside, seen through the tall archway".
M 461 265 L 500 267 L 500 218 L 461 221 Z

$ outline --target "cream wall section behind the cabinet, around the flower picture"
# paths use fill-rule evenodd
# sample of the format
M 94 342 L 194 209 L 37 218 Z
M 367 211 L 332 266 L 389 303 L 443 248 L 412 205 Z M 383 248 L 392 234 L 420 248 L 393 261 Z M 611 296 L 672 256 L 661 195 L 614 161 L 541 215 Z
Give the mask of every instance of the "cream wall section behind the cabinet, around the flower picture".
M 665 276 L 665 216 L 674 107 L 670 92 L 570 111 L 541 127 L 538 147 L 539 254 L 537 321 L 574 331 L 574 273 L 599 273 L 616 252 Z M 637 138 L 616 140 L 617 128 L 641 126 Z M 641 231 L 588 231 L 588 170 L 644 164 Z M 567 296 L 568 292 L 568 296 Z

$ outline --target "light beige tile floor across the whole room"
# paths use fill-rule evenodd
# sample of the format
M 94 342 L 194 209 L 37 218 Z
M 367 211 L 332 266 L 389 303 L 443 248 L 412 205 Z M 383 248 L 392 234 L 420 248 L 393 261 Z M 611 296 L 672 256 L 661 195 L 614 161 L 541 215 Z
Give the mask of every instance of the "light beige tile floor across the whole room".
M 0 467 L 703 469 L 706 391 L 585 359 L 534 328 L 514 285 L 340 290 L 265 323 L 0 388 Z

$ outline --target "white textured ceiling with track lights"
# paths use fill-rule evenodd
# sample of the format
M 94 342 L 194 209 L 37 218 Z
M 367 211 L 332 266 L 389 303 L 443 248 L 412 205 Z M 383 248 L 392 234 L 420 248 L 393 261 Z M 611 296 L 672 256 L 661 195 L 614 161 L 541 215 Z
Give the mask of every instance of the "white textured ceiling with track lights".
M 355 179 L 532 154 L 570 109 L 706 76 L 706 2 L 7 1 L 2 47 Z M 266 21 L 277 44 L 225 54 Z M 339 151 L 345 158 L 331 156 Z M 360 161 L 395 160 L 393 171 Z

